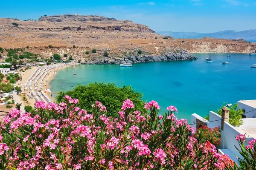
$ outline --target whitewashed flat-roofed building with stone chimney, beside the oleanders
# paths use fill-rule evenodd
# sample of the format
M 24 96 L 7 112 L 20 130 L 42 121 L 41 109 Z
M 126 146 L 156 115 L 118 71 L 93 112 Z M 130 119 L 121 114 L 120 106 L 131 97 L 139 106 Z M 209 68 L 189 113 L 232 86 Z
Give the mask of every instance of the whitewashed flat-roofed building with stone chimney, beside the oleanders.
M 240 147 L 235 136 L 246 133 L 248 141 L 256 139 L 256 100 L 240 100 L 237 103 L 239 109 L 245 112 L 242 115 L 244 123 L 239 127 L 229 124 L 229 108 L 227 107 L 222 108 L 222 116 L 210 111 L 209 121 L 196 113 L 191 116 L 191 124 L 193 124 L 191 126 L 195 129 L 202 126 L 221 127 L 221 144 L 217 147 L 218 153 L 228 154 L 230 159 L 236 163 L 238 163 L 236 156 L 241 157 L 241 155 L 236 149 Z

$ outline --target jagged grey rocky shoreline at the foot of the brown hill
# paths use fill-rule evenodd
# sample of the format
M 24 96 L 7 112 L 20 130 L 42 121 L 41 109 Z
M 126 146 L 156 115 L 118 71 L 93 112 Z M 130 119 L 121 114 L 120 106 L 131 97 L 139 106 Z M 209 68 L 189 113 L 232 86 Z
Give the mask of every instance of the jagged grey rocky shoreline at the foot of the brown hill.
M 161 55 L 134 55 L 124 57 L 94 57 L 87 59 L 82 64 L 121 64 L 121 63 L 142 63 L 142 62 L 157 62 L 157 61 L 185 61 L 197 59 L 194 55 L 187 51 L 172 51 Z

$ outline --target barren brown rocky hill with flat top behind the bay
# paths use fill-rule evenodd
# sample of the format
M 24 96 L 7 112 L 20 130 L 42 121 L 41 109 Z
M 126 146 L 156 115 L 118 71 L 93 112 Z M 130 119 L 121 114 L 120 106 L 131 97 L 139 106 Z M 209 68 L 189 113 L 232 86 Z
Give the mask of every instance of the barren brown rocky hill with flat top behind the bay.
M 106 63 L 183 60 L 194 58 L 189 53 L 252 53 L 256 50 L 256 43 L 246 41 L 167 38 L 148 26 L 102 16 L 68 14 L 41 17 L 37 21 L 0 18 L 0 47 L 26 46 L 29 46 L 26 51 L 46 58 L 57 53 L 61 56 L 68 54 L 81 61 L 104 59 Z M 92 52 L 93 49 L 96 53 Z M 139 50 L 142 51 L 140 55 Z M 103 57 L 105 52 L 108 52 L 107 59 Z M 4 59 L 6 54 L 2 56 Z

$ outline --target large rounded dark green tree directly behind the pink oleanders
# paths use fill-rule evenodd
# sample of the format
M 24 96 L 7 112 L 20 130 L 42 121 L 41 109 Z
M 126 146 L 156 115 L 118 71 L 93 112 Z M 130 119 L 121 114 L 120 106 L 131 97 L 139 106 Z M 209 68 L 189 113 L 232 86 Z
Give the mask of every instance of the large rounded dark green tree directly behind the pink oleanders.
M 104 84 L 91 83 L 89 85 L 78 85 L 73 91 L 61 91 L 56 97 L 56 101 L 61 102 L 63 96 L 69 95 L 79 99 L 79 107 L 90 110 L 95 101 L 101 101 L 106 106 L 108 116 L 116 117 L 117 112 L 122 107 L 122 101 L 131 99 L 134 102 L 135 110 L 145 112 L 143 94 L 132 89 L 131 86 L 116 86 L 114 83 Z

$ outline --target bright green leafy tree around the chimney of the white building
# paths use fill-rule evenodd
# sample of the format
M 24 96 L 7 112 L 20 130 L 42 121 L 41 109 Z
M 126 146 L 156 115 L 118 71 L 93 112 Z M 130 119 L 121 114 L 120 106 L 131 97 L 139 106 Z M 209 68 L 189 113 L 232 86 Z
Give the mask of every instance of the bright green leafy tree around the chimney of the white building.
M 227 103 L 224 102 L 223 105 L 221 106 L 221 108 L 223 108 L 226 105 L 227 105 Z M 214 112 L 218 113 L 221 116 L 222 115 L 221 108 L 218 108 L 217 111 L 214 111 Z M 243 124 L 242 114 L 244 113 L 244 111 L 242 111 L 241 109 L 238 109 L 237 103 L 235 103 L 234 105 L 229 107 L 229 109 L 230 109 L 230 114 L 229 114 L 230 125 L 233 125 L 233 126 L 242 125 Z M 204 117 L 204 119 L 209 120 L 209 114 L 206 117 Z

